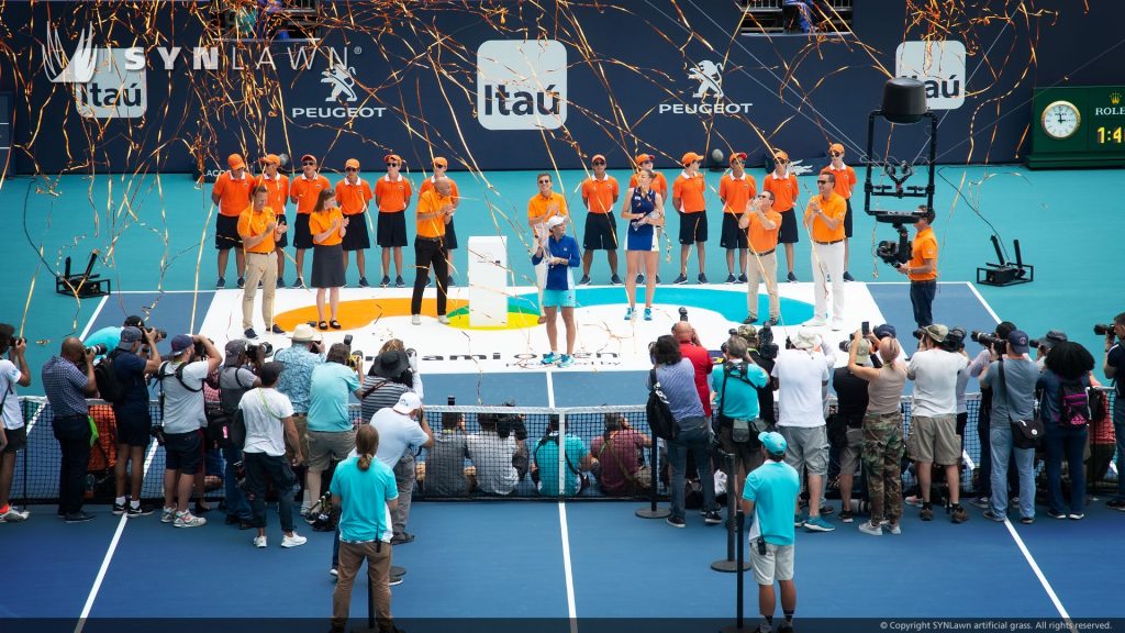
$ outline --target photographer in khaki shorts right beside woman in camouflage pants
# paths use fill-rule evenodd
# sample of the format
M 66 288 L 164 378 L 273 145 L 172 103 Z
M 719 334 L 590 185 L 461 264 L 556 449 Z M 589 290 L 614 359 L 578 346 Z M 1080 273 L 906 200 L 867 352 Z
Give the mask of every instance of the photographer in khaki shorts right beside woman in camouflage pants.
M 919 335 L 920 348 L 910 358 L 907 376 L 915 382 L 910 437 L 907 449 L 915 461 L 921 488 L 921 520 L 933 520 L 930 467 L 945 467 L 953 523 L 969 520 L 961 507 L 961 438 L 957 437 L 957 372 L 969 365 L 963 355 L 943 347 L 950 329 L 940 323 L 926 326 Z

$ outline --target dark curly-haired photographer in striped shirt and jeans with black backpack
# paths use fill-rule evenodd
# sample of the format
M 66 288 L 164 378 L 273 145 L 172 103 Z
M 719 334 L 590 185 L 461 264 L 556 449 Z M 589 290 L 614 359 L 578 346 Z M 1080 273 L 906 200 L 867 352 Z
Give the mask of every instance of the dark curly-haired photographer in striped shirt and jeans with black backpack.
M 684 527 L 684 479 L 686 476 L 687 452 L 695 458 L 695 469 L 703 487 L 703 511 L 708 525 L 722 523 L 719 506 L 714 502 L 714 478 L 708 465 L 711 463 L 711 425 L 703 417 L 703 403 L 695 389 L 695 368 L 692 362 L 680 354 L 680 344 L 672 335 L 664 335 L 652 344 L 652 364 L 656 382 L 668 400 L 668 409 L 676 420 L 678 435 L 669 440 L 668 464 L 672 466 L 672 516 L 668 525 Z M 652 389 L 652 374 L 648 386 Z

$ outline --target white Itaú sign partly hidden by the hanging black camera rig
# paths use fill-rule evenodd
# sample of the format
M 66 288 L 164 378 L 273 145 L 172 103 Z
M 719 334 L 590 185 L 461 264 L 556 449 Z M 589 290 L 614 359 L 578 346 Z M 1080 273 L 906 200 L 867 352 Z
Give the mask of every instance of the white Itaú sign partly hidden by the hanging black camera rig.
M 926 84 L 932 110 L 955 110 L 965 102 L 965 45 L 956 39 L 903 42 L 894 51 L 894 75 Z

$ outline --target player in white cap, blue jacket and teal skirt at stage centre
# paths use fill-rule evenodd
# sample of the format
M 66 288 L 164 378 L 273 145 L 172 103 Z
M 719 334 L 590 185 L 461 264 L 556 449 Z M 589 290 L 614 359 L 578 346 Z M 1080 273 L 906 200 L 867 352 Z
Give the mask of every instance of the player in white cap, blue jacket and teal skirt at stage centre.
M 577 303 L 574 292 L 572 268 L 582 262 L 582 251 L 578 242 L 566 234 L 566 217 L 552 215 L 547 221 L 550 234 L 539 243 L 531 264 L 538 266 L 547 261 L 547 284 L 543 286 L 543 315 L 547 318 L 547 340 L 551 344 L 551 353 L 543 356 L 543 365 L 569 367 L 574 365 L 574 339 L 577 328 L 574 324 L 574 306 Z M 558 355 L 558 326 L 555 318 L 562 309 L 562 323 L 566 324 L 566 354 Z

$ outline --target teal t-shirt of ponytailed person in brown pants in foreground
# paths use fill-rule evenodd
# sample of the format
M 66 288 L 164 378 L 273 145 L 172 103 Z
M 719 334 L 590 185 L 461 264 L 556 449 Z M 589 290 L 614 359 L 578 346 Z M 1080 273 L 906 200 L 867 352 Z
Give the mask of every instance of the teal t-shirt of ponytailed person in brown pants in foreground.
M 398 485 L 389 466 L 372 457 L 371 465 L 361 471 L 359 457 L 348 457 L 336 466 L 328 490 L 342 499 L 341 541 L 390 542 L 393 529 L 387 501 L 398 498 Z

